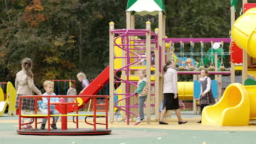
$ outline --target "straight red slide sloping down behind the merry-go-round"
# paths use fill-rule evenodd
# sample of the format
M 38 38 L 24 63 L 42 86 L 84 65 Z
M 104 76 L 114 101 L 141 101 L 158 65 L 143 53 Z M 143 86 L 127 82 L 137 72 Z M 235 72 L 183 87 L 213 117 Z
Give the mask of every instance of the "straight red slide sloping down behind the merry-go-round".
M 86 89 L 84 89 L 84 92 L 82 94 L 79 95 L 95 95 L 97 94 L 107 83 L 109 82 L 109 65 L 107 68 L 105 68 L 100 75 L 98 75 L 96 77 L 96 79 L 94 79 L 94 81 L 92 81 L 90 83 L 90 85 L 88 87 L 86 87 Z M 78 92 L 79 93 L 79 92 Z M 81 109 L 84 104 L 88 103 L 90 101 L 91 98 L 81 98 L 83 99 L 83 105 L 80 105 L 78 107 L 78 109 Z M 56 105 L 56 109 L 61 112 L 61 106 L 60 105 Z M 68 105 L 67 107 L 67 112 L 73 112 L 73 105 Z

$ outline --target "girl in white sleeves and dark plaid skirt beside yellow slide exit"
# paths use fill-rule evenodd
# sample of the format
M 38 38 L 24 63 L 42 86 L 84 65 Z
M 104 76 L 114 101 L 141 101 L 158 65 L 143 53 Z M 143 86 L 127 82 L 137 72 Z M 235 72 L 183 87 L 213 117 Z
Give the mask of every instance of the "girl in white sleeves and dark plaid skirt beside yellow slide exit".
M 215 104 L 215 100 L 211 91 L 211 78 L 208 77 L 208 71 L 206 69 L 202 69 L 201 71 L 201 94 L 200 94 L 200 106 L 201 106 L 201 115 L 204 107 Z M 197 122 L 201 123 L 201 121 Z

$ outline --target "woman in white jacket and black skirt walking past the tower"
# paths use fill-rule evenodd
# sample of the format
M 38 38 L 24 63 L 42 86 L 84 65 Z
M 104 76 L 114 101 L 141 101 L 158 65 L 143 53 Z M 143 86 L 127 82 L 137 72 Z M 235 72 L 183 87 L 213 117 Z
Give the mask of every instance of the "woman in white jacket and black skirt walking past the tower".
M 168 60 L 164 67 L 164 106 L 161 111 L 161 118 L 159 124 L 168 124 L 164 122 L 164 115 L 167 110 L 175 110 L 178 118 L 178 124 L 187 123 L 181 118 L 181 111 L 179 111 L 179 99 L 178 99 L 178 81 L 177 71 L 173 59 Z

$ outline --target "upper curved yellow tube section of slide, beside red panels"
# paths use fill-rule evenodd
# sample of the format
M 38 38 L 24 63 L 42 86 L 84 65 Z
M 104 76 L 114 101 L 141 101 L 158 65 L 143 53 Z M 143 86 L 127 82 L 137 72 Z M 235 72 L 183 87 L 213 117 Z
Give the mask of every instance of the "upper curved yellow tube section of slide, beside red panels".
M 232 38 L 237 46 L 246 50 L 249 56 L 256 58 L 256 8 L 246 11 L 238 17 L 232 27 Z

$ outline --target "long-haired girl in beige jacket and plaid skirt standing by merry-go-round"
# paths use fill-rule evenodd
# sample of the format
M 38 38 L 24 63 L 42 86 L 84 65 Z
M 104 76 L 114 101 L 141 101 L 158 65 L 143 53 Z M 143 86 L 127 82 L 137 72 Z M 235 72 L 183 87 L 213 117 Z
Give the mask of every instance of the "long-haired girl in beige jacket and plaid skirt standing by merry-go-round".
M 15 79 L 15 88 L 17 91 L 16 95 L 16 103 L 15 108 L 19 109 L 19 98 L 20 95 L 33 95 L 32 91 L 37 93 L 38 95 L 42 95 L 39 89 L 34 86 L 34 74 L 32 73 L 32 61 L 30 58 L 24 58 L 21 61 L 22 70 L 16 74 Z M 34 98 L 22 98 L 21 99 L 21 115 L 26 113 L 26 110 L 31 110 L 31 113 L 34 114 Z M 30 119 L 32 122 L 33 119 Z M 24 123 L 24 118 L 21 118 L 21 123 Z M 22 125 L 21 128 L 31 129 L 31 124 L 26 125 L 25 127 Z

